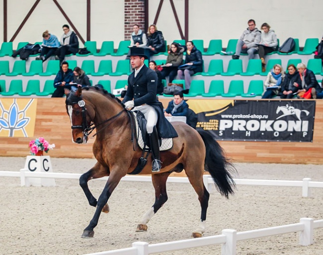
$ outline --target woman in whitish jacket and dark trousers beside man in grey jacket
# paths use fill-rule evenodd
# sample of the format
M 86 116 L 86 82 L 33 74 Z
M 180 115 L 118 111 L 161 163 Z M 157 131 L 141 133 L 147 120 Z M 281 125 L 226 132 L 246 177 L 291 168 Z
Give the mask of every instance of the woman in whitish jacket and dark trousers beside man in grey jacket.
M 267 23 L 261 25 L 261 41 L 258 45 L 258 54 L 262 64 L 262 71 L 266 71 L 265 55 L 276 50 L 278 41 L 275 31 Z

